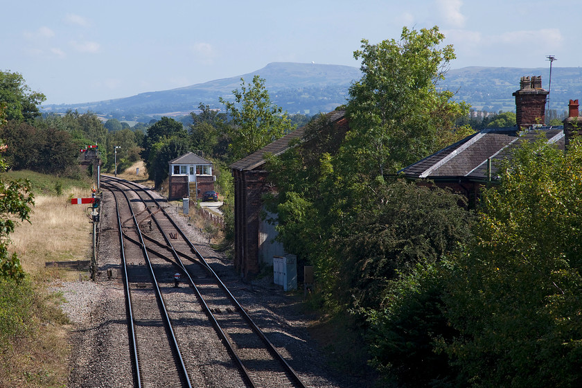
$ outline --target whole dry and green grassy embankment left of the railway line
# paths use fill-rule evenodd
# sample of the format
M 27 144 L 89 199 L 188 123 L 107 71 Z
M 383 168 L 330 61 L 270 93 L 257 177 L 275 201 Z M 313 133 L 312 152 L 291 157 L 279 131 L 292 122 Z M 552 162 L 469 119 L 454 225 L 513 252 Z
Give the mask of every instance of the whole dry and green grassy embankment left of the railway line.
M 35 194 L 29 222 L 20 222 L 11 236 L 26 279 L 0 281 L 0 387 L 65 387 L 67 341 L 71 327 L 58 309 L 58 295 L 46 292 L 52 281 L 79 274 L 45 268 L 46 261 L 87 260 L 91 224 L 87 206 L 69 198 L 90 195 L 91 183 L 17 171 L 2 179 L 28 179 Z M 87 278 L 88 274 L 83 274 Z

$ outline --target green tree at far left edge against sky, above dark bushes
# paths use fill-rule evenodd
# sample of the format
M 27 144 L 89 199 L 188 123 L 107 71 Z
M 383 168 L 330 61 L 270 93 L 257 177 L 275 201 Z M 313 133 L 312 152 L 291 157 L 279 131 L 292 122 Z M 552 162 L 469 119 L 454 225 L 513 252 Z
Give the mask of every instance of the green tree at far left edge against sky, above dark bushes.
M 5 104 L 7 120 L 32 123 L 40 116 L 37 105 L 44 100 L 44 94 L 31 91 L 21 74 L 0 71 L 0 103 Z

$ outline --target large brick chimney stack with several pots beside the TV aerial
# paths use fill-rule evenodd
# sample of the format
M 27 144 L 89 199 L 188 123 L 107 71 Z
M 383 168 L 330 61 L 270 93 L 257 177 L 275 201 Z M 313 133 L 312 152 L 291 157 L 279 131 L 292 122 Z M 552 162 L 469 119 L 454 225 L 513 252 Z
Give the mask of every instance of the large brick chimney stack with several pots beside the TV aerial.
M 544 123 L 547 94 L 548 91 L 542 89 L 542 76 L 520 79 L 520 89 L 513 92 L 518 128 Z

